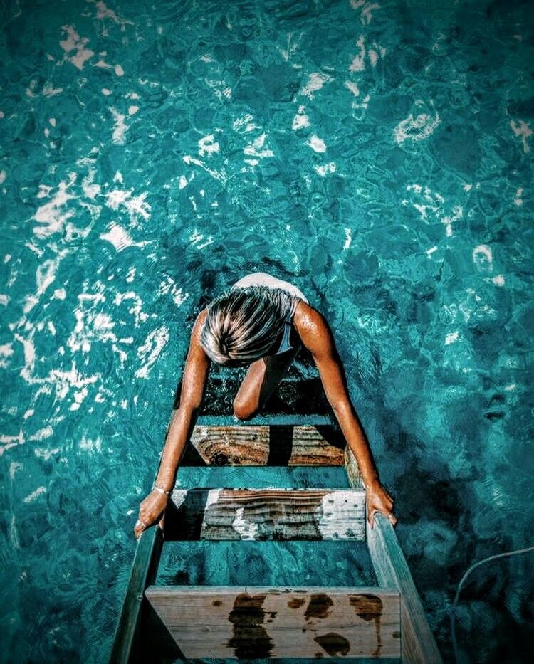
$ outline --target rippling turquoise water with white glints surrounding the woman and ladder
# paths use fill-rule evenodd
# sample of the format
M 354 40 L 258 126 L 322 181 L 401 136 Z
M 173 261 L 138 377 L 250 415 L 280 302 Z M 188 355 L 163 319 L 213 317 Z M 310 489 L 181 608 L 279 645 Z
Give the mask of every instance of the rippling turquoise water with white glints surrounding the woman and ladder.
M 199 308 L 328 318 L 451 660 L 533 543 L 527 1 L 1 6 L 0 658 L 104 662 Z M 525 661 L 534 560 L 464 589 Z

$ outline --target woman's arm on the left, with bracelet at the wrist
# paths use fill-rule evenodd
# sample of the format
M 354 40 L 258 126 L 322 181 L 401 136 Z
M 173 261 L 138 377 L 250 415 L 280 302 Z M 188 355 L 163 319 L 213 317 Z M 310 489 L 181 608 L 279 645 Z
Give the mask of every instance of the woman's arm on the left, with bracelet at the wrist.
M 179 407 L 172 415 L 155 481 L 155 487 L 159 487 L 160 490 L 152 489 L 140 504 L 139 517 L 134 528 L 137 538 L 143 530 L 162 516 L 167 507 L 169 495 L 164 491 L 171 492 L 174 488 L 178 463 L 202 404 L 211 364 L 211 360 L 200 345 L 200 335 L 204 320 L 206 320 L 206 313 L 205 309 L 201 311 L 193 325 L 182 377 Z

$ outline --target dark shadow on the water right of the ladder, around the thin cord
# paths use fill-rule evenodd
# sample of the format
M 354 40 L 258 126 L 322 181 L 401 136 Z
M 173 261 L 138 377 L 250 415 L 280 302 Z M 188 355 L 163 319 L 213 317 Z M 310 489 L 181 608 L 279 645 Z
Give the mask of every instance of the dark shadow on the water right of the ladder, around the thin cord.
M 397 536 L 431 628 L 446 662 L 454 662 L 450 611 L 459 580 L 474 562 L 514 548 L 511 537 L 481 539 L 473 527 L 478 505 L 473 480 L 455 478 L 449 466 L 423 458 L 422 441 L 404 430 L 398 413 L 380 411 L 387 453 L 402 455 L 394 478 Z M 480 443 L 481 444 L 481 443 Z M 429 468 L 430 466 L 430 468 Z M 534 557 L 530 557 L 534 558 Z M 534 560 L 501 559 L 483 566 L 464 587 L 456 612 L 460 662 L 524 664 L 534 637 Z M 436 592 L 436 579 L 443 579 Z M 529 586 L 530 584 L 530 593 Z M 515 606 L 513 606 L 515 604 Z

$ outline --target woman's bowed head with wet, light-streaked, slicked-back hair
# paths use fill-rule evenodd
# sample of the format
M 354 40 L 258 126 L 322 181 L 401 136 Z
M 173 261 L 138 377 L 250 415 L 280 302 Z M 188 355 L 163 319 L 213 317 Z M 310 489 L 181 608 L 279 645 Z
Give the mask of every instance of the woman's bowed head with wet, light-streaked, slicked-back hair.
M 250 364 L 269 352 L 293 316 L 298 298 L 281 288 L 247 286 L 219 295 L 207 307 L 201 346 L 218 364 Z

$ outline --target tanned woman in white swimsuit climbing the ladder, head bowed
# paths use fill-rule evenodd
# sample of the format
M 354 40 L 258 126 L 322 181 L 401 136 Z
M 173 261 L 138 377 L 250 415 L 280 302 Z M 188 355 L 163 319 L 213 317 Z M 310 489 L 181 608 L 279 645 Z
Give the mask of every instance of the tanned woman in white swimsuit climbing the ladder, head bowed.
M 199 414 L 211 362 L 247 366 L 234 399 L 234 414 L 247 420 L 261 410 L 300 347 L 318 367 L 325 394 L 355 455 L 367 492 L 367 519 L 381 512 L 392 525 L 393 499 L 379 481 L 372 453 L 347 390 L 345 371 L 330 327 L 293 284 L 252 273 L 219 295 L 194 322 L 182 377 L 179 407 L 167 432 L 155 485 L 140 504 L 135 537 L 159 521 L 176 480 L 179 460 Z

